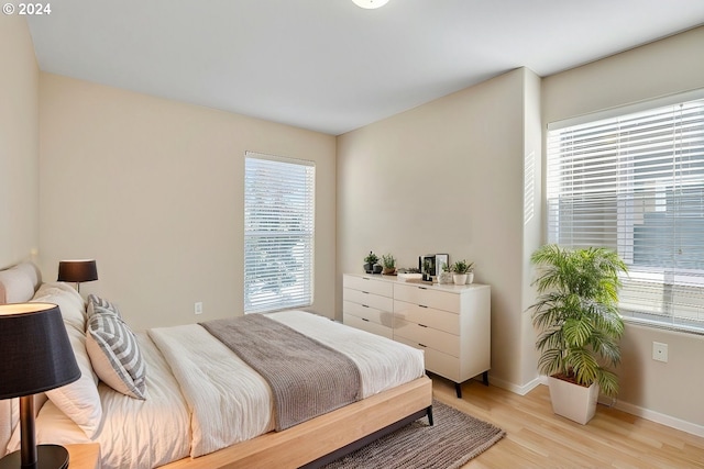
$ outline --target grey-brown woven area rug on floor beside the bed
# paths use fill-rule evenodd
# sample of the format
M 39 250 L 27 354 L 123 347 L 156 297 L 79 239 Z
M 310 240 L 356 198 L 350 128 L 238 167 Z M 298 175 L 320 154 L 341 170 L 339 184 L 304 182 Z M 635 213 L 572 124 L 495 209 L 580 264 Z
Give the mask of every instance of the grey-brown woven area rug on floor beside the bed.
M 424 417 L 326 466 L 324 469 L 457 469 L 502 439 L 505 432 L 432 401 L 435 425 Z

